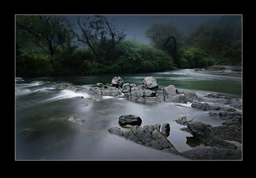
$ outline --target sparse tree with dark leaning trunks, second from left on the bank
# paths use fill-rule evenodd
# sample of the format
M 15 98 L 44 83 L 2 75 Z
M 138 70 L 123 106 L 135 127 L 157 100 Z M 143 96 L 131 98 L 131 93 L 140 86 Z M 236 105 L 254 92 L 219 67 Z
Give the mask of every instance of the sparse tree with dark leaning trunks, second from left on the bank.
M 98 61 L 101 61 L 104 57 L 107 60 L 111 60 L 111 50 L 115 49 L 125 39 L 124 30 L 119 31 L 105 16 L 95 15 L 94 18 L 80 18 L 81 16 L 76 19 L 77 29 L 75 26 L 70 25 L 78 41 L 87 44 L 96 55 Z

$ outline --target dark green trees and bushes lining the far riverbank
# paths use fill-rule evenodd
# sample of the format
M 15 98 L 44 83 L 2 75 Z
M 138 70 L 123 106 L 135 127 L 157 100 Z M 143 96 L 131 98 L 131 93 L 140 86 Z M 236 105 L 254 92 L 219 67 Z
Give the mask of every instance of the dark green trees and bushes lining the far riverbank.
M 16 76 L 142 73 L 242 65 L 241 16 L 223 16 L 202 23 L 186 36 L 172 23 L 153 24 L 147 37 L 160 34 L 161 29 L 162 36 L 151 45 L 125 40 L 123 31 L 119 32 L 106 18 L 96 18 L 99 20 L 90 23 L 87 18 L 90 25 L 83 23 L 83 33 L 79 35 L 63 17 L 16 16 Z M 78 47 L 73 43 L 76 40 L 84 45 Z

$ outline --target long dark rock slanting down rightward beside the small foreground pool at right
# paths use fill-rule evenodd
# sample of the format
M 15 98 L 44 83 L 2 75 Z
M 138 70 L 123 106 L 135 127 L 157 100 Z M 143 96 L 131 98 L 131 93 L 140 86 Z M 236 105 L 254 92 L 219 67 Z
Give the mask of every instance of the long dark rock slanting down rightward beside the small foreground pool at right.
M 197 119 L 192 119 L 188 121 L 187 124 L 187 127 L 191 129 L 193 136 L 200 142 L 215 148 L 237 149 L 236 145 L 216 136 L 212 129 Z

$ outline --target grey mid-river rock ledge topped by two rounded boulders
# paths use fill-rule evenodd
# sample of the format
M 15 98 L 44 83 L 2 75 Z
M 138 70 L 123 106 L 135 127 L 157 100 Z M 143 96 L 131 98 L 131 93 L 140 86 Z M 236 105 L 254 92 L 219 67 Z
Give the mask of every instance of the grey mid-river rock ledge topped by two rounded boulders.
M 242 115 L 242 101 L 239 101 L 237 98 L 219 96 L 216 93 L 198 96 L 195 92 L 186 90 L 178 93 L 174 85 L 164 88 L 159 87 L 154 77 L 144 78 L 143 85 L 139 86 L 135 83 L 124 83 L 121 77 L 114 77 L 111 84 L 103 85 L 102 83 L 97 83 L 96 85 L 96 87 L 90 87 L 83 91 L 92 95 L 88 98 L 90 100 L 101 101 L 101 98 L 96 96 L 111 96 L 141 103 L 159 104 L 161 102 L 174 102 L 177 103 L 176 105 L 179 105 L 178 103 L 192 103 L 190 108 L 208 111 L 211 116 L 220 117 L 225 120 Z M 56 88 L 73 91 L 82 89 L 71 83 L 59 84 Z M 223 106 L 226 105 L 226 107 L 211 106 L 209 102 L 220 103 Z M 184 107 L 184 105 L 179 106 Z

